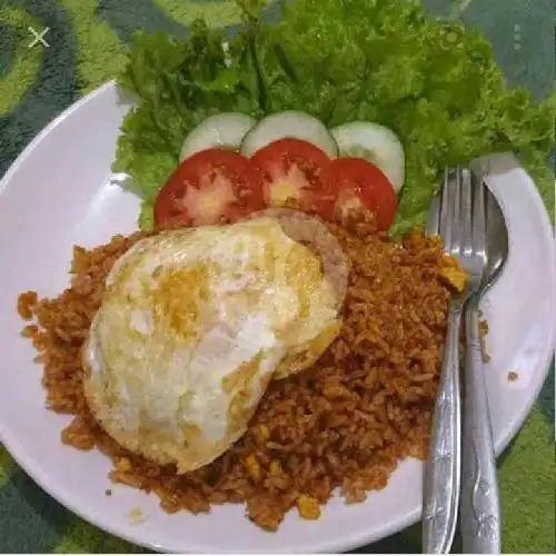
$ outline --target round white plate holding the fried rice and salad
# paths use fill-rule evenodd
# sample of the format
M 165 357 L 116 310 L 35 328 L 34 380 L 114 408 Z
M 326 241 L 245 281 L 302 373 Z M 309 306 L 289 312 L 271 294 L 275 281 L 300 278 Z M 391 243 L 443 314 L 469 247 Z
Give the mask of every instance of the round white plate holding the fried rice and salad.
M 113 83 L 51 123 L 0 182 L 0 438 L 39 485 L 99 527 L 163 552 L 342 552 L 378 540 L 420 516 L 421 469 L 404 461 L 388 487 L 366 503 L 330 500 L 318 522 L 291 512 L 278 533 L 264 533 L 241 506 L 210 515 L 167 515 L 155 496 L 109 484 L 108 459 L 62 446 L 68 418 L 44 409 L 41 368 L 19 336 L 19 292 L 58 295 L 68 284 L 71 247 L 96 246 L 136 228 L 139 200 L 110 182 L 118 128 L 129 105 Z M 534 183 L 512 157 L 495 160 L 489 185 L 508 221 L 510 256 L 488 295 L 492 363 L 486 380 L 499 453 L 523 424 L 543 385 L 554 341 L 555 252 L 552 227 Z M 508 381 L 508 371 L 519 379 Z M 106 488 L 113 495 L 107 497 Z M 129 514 L 141 508 L 142 524 Z

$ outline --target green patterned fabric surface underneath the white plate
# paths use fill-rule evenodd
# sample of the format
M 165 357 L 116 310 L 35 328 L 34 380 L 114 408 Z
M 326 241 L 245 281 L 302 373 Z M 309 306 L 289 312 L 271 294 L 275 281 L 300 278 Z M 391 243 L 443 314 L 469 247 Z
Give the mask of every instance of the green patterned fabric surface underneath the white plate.
M 428 0 L 435 13 L 461 18 L 492 39 L 508 79 L 537 97 L 554 86 L 554 0 Z M 279 17 L 277 2 L 268 18 Z M 199 16 L 230 32 L 231 0 L 0 0 L 0 177 L 47 123 L 115 77 L 137 29 L 186 37 Z M 50 48 L 29 48 L 31 26 Z M 39 377 L 37 377 L 39 379 Z M 506 553 L 554 553 L 554 366 L 529 418 L 499 459 Z M 460 548 L 456 540 L 455 552 Z M 419 525 L 360 553 L 417 553 Z M 64 509 L 0 446 L 0 552 L 145 552 Z

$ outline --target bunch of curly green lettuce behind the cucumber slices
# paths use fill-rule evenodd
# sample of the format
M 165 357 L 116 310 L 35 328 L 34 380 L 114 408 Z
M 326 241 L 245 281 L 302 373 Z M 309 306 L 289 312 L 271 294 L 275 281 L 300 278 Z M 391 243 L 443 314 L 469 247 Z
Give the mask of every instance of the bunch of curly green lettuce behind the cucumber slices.
M 238 0 L 246 26 L 229 49 L 197 22 L 186 41 L 136 38 L 119 83 L 138 97 L 118 140 L 117 171 L 149 206 L 207 116 L 304 110 L 327 126 L 376 121 L 400 137 L 406 183 L 393 234 L 425 219 L 446 165 L 514 151 L 554 210 L 556 97 L 534 103 L 508 88 L 490 43 L 461 23 L 430 19 L 417 0 L 296 0 L 277 23 L 260 0 Z

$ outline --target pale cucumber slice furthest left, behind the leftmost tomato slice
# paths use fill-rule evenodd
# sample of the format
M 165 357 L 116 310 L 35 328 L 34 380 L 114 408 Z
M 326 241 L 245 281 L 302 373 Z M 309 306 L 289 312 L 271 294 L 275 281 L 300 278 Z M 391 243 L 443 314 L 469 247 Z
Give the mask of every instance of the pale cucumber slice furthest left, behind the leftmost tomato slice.
M 180 162 L 206 149 L 239 150 L 244 137 L 255 123 L 257 120 L 240 112 L 209 116 L 186 137 L 179 156 Z

